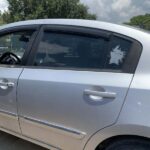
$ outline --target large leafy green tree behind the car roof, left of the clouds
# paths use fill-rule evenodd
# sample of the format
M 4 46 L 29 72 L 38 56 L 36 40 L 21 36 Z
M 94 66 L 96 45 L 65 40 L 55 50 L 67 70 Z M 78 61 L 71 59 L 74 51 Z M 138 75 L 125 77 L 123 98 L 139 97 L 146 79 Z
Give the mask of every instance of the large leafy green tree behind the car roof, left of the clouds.
M 79 0 L 7 0 L 6 23 L 42 18 L 96 19 Z

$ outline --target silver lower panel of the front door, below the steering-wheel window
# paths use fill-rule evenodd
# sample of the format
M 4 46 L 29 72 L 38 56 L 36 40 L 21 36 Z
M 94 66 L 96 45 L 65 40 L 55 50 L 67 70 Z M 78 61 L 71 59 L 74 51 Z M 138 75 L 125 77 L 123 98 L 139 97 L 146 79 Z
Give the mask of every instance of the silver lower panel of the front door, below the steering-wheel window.
M 22 68 L 0 68 L 0 127 L 20 132 L 16 89 Z

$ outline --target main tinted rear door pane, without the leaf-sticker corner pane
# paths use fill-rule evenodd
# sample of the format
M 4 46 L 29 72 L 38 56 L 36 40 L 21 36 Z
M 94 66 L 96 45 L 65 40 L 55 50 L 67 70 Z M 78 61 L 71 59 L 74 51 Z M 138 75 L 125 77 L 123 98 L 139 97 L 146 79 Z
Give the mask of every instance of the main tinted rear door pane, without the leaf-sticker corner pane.
M 108 41 L 103 38 L 45 33 L 34 65 L 67 68 L 103 68 Z

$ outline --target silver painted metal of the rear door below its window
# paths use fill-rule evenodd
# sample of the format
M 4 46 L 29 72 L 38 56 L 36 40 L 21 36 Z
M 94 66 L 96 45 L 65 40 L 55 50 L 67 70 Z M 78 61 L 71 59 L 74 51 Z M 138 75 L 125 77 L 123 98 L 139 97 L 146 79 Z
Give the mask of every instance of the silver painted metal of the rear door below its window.
M 19 115 L 79 130 L 86 133 L 87 140 L 97 130 L 115 123 L 132 77 L 122 73 L 25 68 L 18 85 Z M 93 101 L 84 94 L 86 89 L 113 92 L 116 98 Z M 66 150 L 80 149 L 82 140 L 58 129 L 51 131 L 40 126 L 43 130 L 39 130 L 38 124 L 33 126 L 25 120 L 20 124 L 22 133 L 29 137 L 43 140 L 45 131 L 49 140 L 44 142 Z

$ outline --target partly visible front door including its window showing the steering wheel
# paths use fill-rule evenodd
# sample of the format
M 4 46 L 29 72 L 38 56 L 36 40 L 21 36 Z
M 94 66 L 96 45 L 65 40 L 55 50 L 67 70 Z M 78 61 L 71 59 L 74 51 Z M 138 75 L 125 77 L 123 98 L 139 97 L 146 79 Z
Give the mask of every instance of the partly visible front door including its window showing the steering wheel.
M 20 133 L 17 84 L 35 29 L 11 27 L 0 31 L 0 128 Z

